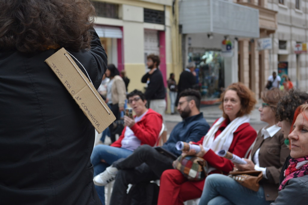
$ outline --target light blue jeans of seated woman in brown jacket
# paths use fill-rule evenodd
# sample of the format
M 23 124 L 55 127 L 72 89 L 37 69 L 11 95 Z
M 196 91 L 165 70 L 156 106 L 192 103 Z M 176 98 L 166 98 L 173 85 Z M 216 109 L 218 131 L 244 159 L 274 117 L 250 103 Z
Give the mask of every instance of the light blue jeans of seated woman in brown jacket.
M 226 175 L 211 174 L 205 179 L 199 205 L 261 205 L 272 202 L 265 200 L 262 186 L 258 191 L 252 191 Z

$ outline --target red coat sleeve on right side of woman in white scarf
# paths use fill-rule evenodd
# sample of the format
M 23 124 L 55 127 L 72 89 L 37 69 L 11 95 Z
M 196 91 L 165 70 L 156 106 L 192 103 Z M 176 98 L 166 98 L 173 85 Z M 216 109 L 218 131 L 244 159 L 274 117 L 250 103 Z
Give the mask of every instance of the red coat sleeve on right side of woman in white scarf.
M 242 124 L 233 133 L 233 141 L 229 148 L 229 152 L 239 157 L 244 157 L 256 137 L 257 132 L 249 125 L 249 123 Z M 209 163 L 209 165 L 223 171 L 224 173 L 232 171 L 234 166 L 231 160 L 216 155 L 216 153 L 211 149 L 205 153 L 203 158 Z

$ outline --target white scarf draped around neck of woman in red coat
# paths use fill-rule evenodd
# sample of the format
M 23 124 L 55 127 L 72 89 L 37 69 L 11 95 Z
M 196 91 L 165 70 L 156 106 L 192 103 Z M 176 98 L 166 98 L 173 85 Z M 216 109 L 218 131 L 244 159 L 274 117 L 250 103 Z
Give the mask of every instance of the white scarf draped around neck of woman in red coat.
M 240 125 L 244 123 L 249 123 L 250 116 L 244 115 L 242 117 L 237 117 L 232 120 L 229 125 L 215 138 L 215 133 L 221 126 L 221 123 L 225 120 L 224 117 L 219 118 L 215 124 L 210 128 L 208 133 L 204 136 L 203 147 L 205 149 L 210 148 L 214 152 L 221 150 L 229 150 L 231 143 L 233 141 L 233 133 L 237 130 Z M 209 167 L 208 173 L 215 170 L 214 167 Z

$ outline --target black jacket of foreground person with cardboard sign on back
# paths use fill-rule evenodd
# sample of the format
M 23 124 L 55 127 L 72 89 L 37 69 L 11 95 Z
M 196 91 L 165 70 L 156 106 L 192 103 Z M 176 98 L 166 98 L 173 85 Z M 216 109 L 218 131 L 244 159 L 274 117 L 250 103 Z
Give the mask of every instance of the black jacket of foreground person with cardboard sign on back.
M 1 205 L 101 204 L 90 162 L 94 127 L 44 62 L 56 51 L 0 52 Z M 70 53 L 97 89 L 107 68 L 97 34 L 89 51 Z

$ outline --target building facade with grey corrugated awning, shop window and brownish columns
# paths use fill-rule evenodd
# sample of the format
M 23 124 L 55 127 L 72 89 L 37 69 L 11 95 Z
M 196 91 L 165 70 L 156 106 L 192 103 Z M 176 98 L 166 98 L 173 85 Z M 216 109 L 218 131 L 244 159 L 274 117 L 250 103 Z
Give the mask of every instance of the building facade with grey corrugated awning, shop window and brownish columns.
M 204 98 L 217 98 L 238 81 L 256 97 L 264 89 L 272 58 L 268 49 L 258 48 L 258 39 L 275 32 L 277 11 L 263 0 L 252 1 L 179 0 L 183 66 L 189 61 L 198 65 Z

